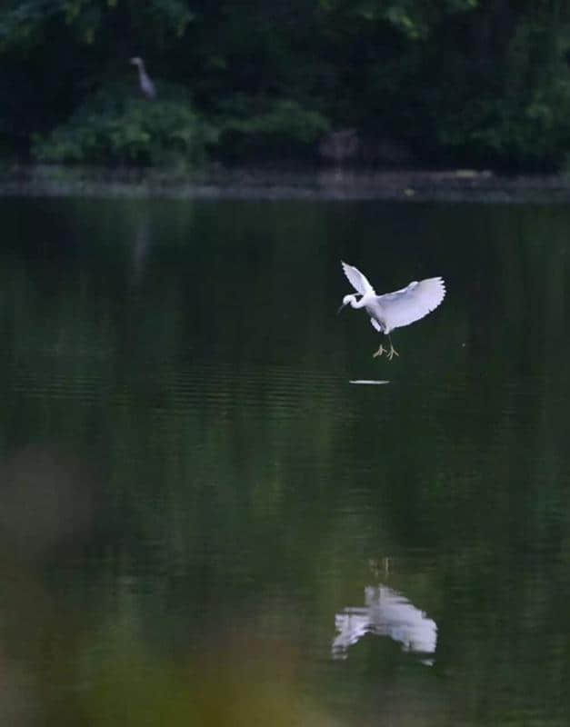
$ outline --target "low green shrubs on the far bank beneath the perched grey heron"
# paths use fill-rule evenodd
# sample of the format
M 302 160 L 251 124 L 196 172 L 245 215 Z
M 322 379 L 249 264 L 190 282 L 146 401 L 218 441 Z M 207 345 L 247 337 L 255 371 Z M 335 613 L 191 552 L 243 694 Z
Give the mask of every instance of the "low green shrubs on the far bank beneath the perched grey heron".
M 225 161 L 306 158 L 328 131 L 325 116 L 295 101 L 238 98 L 215 121 L 195 111 L 184 90 L 148 100 L 124 85 L 99 91 L 65 124 L 35 135 L 32 154 L 50 164 L 200 165 Z

